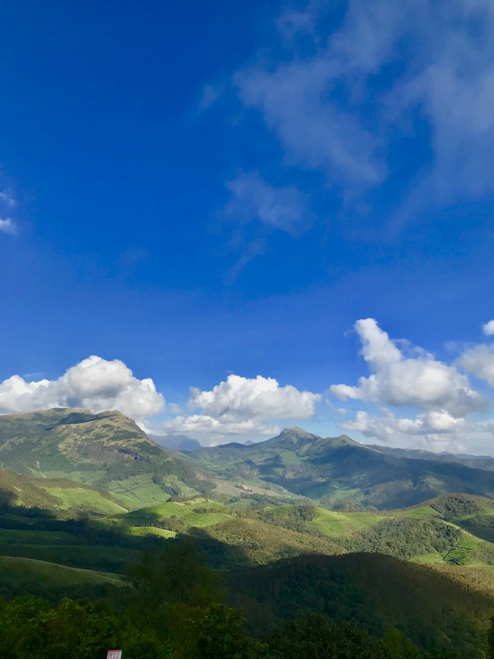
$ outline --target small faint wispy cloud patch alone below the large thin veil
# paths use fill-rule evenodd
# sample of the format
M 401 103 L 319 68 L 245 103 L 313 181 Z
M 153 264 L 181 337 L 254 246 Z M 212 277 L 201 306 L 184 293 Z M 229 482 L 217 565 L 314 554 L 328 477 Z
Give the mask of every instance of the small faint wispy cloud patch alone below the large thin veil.
M 259 220 L 291 236 L 306 231 L 314 221 L 309 197 L 294 186 L 273 187 L 258 172 L 242 173 L 227 183 L 232 196 L 225 215 L 236 223 Z

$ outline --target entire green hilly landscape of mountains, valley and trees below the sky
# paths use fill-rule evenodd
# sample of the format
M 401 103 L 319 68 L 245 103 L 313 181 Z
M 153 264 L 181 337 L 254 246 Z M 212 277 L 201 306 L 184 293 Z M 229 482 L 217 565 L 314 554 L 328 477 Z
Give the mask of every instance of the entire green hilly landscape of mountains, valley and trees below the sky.
M 494 459 L 155 439 L 117 411 L 0 416 L 0 656 L 491 656 Z

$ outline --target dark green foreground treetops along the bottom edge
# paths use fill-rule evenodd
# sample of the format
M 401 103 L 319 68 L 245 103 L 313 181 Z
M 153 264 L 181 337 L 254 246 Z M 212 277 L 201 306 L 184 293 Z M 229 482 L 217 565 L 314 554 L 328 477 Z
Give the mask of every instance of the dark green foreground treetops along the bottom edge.
M 478 654 L 464 643 L 458 647 L 462 654 L 420 649 L 396 627 L 372 633 L 307 609 L 254 635 L 242 611 L 224 603 L 218 573 L 190 542 L 145 552 L 127 579 L 132 587 L 113 602 L 65 598 L 51 606 L 34 596 L 0 601 L 0 656 L 104 659 L 107 650 L 119 648 L 123 659 L 456 659 L 480 657 L 486 647 L 478 631 Z

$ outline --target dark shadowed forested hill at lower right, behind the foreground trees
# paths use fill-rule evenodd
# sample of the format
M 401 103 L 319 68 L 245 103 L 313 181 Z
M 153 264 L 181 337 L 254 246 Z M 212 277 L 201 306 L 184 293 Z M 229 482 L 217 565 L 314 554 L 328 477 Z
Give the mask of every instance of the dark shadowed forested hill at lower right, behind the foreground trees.
M 423 648 L 437 643 L 440 630 L 440 645 L 463 648 L 465 657 L 477 656 L 472 644 L 493 606 L 432 569 L 381 554 L 299 556 L 225 578 L 229 604 L 244 608 L 258 634 L 312 611 L 377 635 L 394 625 Z

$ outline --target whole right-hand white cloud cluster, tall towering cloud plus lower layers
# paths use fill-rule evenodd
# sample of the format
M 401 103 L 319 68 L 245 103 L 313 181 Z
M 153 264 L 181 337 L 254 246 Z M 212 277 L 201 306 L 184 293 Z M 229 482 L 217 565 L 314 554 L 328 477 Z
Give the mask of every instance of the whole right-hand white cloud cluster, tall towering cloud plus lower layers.
M 435 359 L 404 339 L 390 339 L 374 318 L 358 320 L 354 328 L 371 374 L 359 378 L 357 386 L 335 384 L 329 389 L 341 401 L 372 403 L 375 411 L 358 411 L 343 423 L 345 430 L 381 442 L 433 449 L 462 448 L 472 434 L 492 433 L 488 422 L 466 420 L 467 415 L 485 409 L 487 401 L 455 365 Z M 494 386 L 493 346 L 470 347 L 457 364 Z M 416 411 L 416 415 L 400 418 L 388 406 Z

